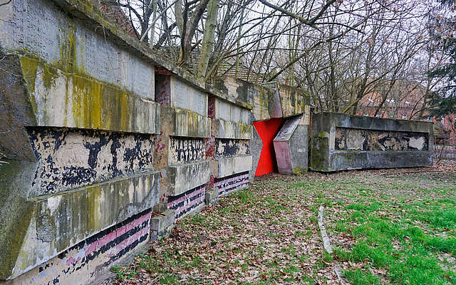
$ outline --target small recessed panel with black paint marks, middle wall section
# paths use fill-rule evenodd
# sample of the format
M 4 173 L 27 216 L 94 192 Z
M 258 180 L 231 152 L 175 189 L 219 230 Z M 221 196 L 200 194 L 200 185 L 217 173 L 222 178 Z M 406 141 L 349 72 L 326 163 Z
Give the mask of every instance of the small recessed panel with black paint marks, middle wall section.
M 170 138 L 170 164 L 183 164 L 206 159 L 205 138 Z

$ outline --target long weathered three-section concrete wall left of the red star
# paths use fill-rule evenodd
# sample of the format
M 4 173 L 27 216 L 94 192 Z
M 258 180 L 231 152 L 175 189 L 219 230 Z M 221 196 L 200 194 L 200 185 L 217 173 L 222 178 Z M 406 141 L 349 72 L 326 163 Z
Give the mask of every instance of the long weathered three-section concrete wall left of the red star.
M 246 187 L 254 120 L 306 112 L 293 89 L 197 81 L 95 2 L 0 6 L 0 283 L 92 282 Z

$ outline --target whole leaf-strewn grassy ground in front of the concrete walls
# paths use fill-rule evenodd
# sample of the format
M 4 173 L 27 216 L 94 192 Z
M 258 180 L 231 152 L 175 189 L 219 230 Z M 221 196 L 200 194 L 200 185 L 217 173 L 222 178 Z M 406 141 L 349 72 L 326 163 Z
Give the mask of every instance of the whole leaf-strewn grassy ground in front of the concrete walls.
M 390 170 L 394 172 L 394 170 Z M 116 284 L 456 284 L 456 175 L 272 175 L 185 217 Z M 323 204 L 333 254 L 317 226 Z

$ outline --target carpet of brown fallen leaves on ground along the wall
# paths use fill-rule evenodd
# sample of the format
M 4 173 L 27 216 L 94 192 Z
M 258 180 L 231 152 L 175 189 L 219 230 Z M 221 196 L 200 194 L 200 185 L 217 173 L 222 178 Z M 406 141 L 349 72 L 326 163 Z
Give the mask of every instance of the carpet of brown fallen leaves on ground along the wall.
M 452 165 L 440 165 L 435 170 L 447 168 L 452 169 Z M 170 237 L 151 242 L 147 253 L 136 257 L 130 266 L 125 267 L 123 276 L 131 278 L 115 279 L 113 282 L 337 284 L 333 261 L 326 260 L 323 255 L 323 244 L 316 224 L 319 205 L 326 204 L 327 207 L 325 219 L 328 220 L 331 242 L 336 247 L 350 249 L 356 242 L 353 234 L 350 231 L 334 231 L 335 227 L 343 227 L 342 212 L 355 212 L 346 209 L 347 205 L 360 197 L 365 202 L 388 199 L 393 204 L 391 210 L 379 209 L 379 216 L 399 220 L 403 212 L 394 203 L 399 203 L 400 199 L 415 202 L 420 199 L 417 193 L 421 190 L 431 189 L 452 179 L 449 176 L 442 180 L 429 180 L 426 185 L 423 182 L 420 189 L 403 187 L 406 183 L 419 185 L 421 180 L 417 182 L 418 176 L 438 174 L 425 170 L 264 175 L 249 188 L 223 197 L 216 206 L 207 207 L 195 216 L 185 217 L 172 230 Z M 407 171 L 411 172 L 395 174 Z M 398 193 L 398 189 L 402 192 Z M 431 192 L 430 197 L 434 197 L 432 195 L 438 197 L 439 194 Z M 365 203 L 366 207 L 370 203 Z M 395 247 L 400 249 L 399 244 Z M 369 270 L 375 276 L 380 276 L 383 283 L 388 281 L 385 279 L 385 269 L 366 267 L 364 261 L 343 261 L 340 265 L 342 269 Z M 131 274 L 133 271 L 135 274 Z

